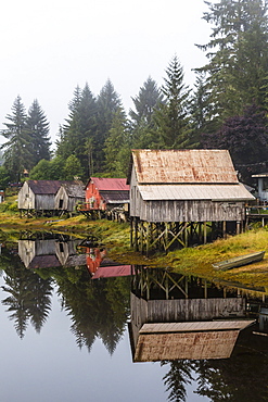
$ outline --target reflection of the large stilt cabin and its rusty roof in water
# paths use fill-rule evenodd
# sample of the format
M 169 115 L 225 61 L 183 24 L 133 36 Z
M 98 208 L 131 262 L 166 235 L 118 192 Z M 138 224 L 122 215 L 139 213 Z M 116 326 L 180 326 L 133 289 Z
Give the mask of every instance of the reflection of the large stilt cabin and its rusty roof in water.
M 139 268 L 129 325 L 135 362 L 230 357 L 246 319 L 246 299 L 194 277 Z

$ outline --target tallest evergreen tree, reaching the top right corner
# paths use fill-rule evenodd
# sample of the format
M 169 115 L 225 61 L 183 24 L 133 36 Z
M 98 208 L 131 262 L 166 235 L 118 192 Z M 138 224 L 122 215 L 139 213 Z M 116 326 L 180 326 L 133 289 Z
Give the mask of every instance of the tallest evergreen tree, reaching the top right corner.
M 267 4 L 263 0 L 206 2 L 204 20 L 215 24 L 210 41 L 200 49 L 208 63 L 199 68 L 207 74 L 214 105 L 212 118 L 218 128 L 227 117 L 241 114 L 247 104 L 265 105 L 268 73 Z

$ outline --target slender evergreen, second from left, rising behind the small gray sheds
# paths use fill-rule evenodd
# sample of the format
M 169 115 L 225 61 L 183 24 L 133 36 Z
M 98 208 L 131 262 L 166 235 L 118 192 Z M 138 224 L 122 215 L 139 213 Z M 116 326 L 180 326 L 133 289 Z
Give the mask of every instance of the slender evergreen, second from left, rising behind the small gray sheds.
M 31 138 L 31 161 L 35 166 L 40 160 L 50 159 L 49 123 L 37 100 L 34 100 L 26 120 L 26 131 Z

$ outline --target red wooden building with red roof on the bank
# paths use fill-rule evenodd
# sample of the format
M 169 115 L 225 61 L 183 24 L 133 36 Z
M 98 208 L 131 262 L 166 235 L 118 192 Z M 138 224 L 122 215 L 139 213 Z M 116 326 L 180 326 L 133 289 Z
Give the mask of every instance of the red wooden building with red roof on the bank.
M 105 211 L 129 203 L 125 178 L 91 177 L 86 187 L 86 210 Z

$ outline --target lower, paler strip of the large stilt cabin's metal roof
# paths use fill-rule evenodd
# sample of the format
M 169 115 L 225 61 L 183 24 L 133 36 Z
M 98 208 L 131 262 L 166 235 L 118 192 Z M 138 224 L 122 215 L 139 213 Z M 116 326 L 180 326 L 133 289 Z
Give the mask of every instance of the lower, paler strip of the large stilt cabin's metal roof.
M 241 183 L 237 185 L 139 185 L 138 188 L 144 201 L 250 201 L 255 199 Z

